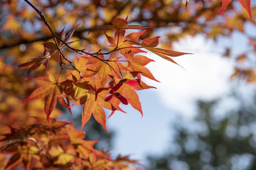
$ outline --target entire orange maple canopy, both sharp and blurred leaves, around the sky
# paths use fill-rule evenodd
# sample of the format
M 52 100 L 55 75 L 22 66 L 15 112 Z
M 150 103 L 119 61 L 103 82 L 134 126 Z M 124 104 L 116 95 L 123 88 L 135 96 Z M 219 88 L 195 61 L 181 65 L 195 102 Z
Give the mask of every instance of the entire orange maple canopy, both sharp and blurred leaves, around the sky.
M 204 1 L 203 1 L 204 2 Z M 188 1 L 186 2 L 188 3 Z M 250 1 L 3 1 L 0 6 L 1 167 L 122 169 L 135 160 L 93 148 L 84 125 L 94 117 L 106 127 L 106 110 L 130 104 L 143 115 L 137 90 L 157 81 L 148 53 L 177 64 L 173 42 L 186 36 L 230 37 L 239 31 L 248 51 L 234 56 L 233 76 L 255 82 L 250 62 L 255 24 Z M 224 10 L 225 9 L 225 10 Z M 218 15 L 222 13 L 222 15 Z M 163 31 L 161 37 L 159 31 Z M 203 47 L 202 47 L 203 48 Z M 231 46 L 223 54 L 232 55 Z M 182 66 L 181 66 L 182 67 Z M 83 106 L 81 130 L 60 122 L 61 107 Z M 86 129 L 85 129 L 86 131 Z M 134 167 L 137 168 L 137 167 Z

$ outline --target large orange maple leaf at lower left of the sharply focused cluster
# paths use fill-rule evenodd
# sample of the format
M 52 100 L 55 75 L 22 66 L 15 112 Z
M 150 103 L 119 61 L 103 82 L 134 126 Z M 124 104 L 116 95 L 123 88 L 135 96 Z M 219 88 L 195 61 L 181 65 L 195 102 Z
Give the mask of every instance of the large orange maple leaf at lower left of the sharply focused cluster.
M 54 76 L 47 71 L 46 77 L 38 77 L 38 78 L 28 78 L 30 80 L 36 81 L 36 83 L 42 85 L 38 87 L 35 91 L 30 94 L 28 99 L 24 100 L 22 103 L 26 101 L 31 101 L 35 99 L 44 99 L 45 105 L 44 111 L 47 116 L 47 121 L 49 121 L 49 117 L 51 115 L 52 110 L 56 107 L 57 96 L 61 94 L 60 87 L 58 87 L 58 83 L 56 82 Z

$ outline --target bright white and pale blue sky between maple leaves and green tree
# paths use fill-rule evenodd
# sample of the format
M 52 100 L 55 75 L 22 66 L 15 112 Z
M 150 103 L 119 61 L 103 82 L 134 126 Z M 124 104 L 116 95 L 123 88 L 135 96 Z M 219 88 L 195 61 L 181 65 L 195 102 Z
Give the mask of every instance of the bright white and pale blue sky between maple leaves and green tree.
M 241 39 L 239 43 L 246 42 Z M 117 112 L 108 119 L 108 128 L 116 132 L 111 151 L 114 155 L 131 155 L 132 159 L 144 162 L 149 153 L 164 153 L 172 141 L 172 122 L 189 122 L 195 117 L 197 99 L 211 100 L 230 93 L 234 62 L 221 57 L 225 50 L 222 43 L 214 43 L 198 35 L 181 39 L 173 50 L 194 54 L 175 57 L 174 60 L 184 69 L 157 55 L 148 54 L 156 61 L 148 64 L 148 69 L 161 83 L 145 79 L 148 85 L 157 89 L 138 92 L 143 117 L 128 105 L 122 107 L 127 114 Z

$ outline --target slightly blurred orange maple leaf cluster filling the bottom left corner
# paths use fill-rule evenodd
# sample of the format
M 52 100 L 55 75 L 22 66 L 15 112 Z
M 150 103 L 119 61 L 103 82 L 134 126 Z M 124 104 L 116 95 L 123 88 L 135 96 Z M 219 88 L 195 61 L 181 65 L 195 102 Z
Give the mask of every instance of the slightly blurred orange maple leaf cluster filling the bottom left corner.
M 32 118 L 21 129 L 11 126 L 1 132 L 0 151 L 10 155 L 1 162 L 6 169 L 120 169 L 137 164 L 128 157 L 111 159 L 108 152 L 93 148 L 97 141 L 85 141 L 84 132 L 67 122 Z M 2 154 L 1 154 L 2 155 Z

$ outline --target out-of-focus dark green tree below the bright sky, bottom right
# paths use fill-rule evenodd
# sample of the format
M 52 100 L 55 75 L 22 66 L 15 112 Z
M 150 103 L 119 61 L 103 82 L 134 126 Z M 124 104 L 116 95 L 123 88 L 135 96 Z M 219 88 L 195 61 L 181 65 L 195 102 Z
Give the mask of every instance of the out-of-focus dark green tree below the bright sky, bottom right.
M 238 108 L 227 112 L 221 99 L 198 101 L 195 122 L 172 125 L 170 151 L 148 156 L 149 169 L 255 169 L 256 100 L 235 97 Z

